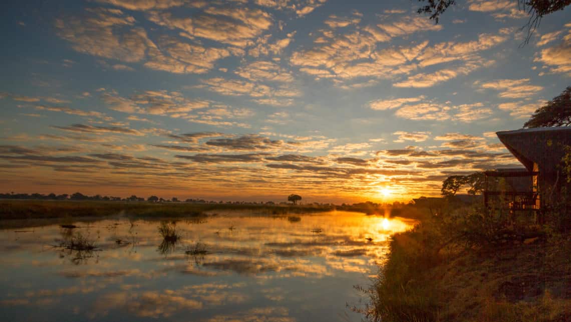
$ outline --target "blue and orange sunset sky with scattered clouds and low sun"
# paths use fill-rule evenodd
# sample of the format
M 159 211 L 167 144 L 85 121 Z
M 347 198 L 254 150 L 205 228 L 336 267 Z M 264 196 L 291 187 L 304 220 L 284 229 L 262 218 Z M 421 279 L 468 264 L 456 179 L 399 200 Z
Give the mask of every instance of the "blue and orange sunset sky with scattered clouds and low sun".
M 514 0 L 17 1 L 0 10 L 0 190 L 408 201 L 521 166 L 571 77 L 571 9 Z

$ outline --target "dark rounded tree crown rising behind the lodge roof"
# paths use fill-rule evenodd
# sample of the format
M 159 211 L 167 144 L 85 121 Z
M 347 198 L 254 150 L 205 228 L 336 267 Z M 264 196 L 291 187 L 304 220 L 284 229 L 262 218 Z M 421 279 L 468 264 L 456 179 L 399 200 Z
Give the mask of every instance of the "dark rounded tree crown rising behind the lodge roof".
M 533 113 L 524 128 L 571 125 L 571 86 Z

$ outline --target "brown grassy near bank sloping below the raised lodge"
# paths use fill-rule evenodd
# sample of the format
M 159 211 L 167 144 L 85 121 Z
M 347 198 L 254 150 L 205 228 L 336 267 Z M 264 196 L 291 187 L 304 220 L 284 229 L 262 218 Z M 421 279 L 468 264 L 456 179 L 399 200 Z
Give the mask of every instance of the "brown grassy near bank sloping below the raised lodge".
M 373 321 L 571 321 L 571 235 L 460 209 L 396 234 Z

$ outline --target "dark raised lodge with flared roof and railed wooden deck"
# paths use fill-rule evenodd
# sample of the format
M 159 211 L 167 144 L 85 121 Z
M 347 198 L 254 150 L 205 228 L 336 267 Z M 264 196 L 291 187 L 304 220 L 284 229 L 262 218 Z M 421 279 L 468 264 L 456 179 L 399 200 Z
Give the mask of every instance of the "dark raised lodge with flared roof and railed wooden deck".
M 558 166 L 566 153 L 565 146 L 571 146 L 571 127 L 521 129 L 496 134 L 525 169 L 485 172 L 486 206 L 494 196 L 502 196 L 512 211 L 540 209 L 540 194 L 548 191 L 557 194 L 565 181 Z M 497 185 L 492 188 L 490 184 L 497 183 L 497 178 L 502 178 L 500 189 Z

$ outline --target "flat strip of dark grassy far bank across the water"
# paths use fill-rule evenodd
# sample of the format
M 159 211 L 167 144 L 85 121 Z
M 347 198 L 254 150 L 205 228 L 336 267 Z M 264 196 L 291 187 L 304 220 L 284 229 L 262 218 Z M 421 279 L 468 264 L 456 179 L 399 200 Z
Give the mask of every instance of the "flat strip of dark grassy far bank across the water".
M 215 211 L 251 211 L 258 214 L 289 214 L 325 212 L 327 206 L 200 204 L 187 202 L 124 202 L 124 201 L 0 201 L 0 219 L 31 219 L 59 217 L 198 217 Z

